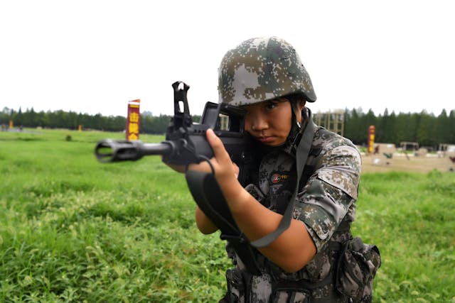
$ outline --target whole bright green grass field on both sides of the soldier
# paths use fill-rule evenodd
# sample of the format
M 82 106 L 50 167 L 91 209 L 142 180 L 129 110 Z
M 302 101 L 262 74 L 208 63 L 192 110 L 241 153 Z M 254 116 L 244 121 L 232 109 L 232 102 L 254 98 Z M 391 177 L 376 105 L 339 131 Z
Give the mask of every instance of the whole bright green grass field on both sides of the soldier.
M 198 233 L 183 175 L 157 156 L 95 160 L 123 136 L 0 133 L 0 302 L 222 297 L 225 243 Z M 455 302 L 454 203 L 454 173 L 363 175 L 353 234 L 381 250 L 374 302 Z

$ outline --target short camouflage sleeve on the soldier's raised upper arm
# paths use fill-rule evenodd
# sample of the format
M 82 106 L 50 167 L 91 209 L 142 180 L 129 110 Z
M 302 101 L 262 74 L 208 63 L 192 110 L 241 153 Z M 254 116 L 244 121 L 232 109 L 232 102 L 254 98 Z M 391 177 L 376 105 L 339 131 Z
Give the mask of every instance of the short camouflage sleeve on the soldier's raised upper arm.
M 294 217 L 304 222 L 319 251 L 346 216 L 353 221 L 360 180 L 357 148 L 341 145 L 321 156 L 299 192 Z

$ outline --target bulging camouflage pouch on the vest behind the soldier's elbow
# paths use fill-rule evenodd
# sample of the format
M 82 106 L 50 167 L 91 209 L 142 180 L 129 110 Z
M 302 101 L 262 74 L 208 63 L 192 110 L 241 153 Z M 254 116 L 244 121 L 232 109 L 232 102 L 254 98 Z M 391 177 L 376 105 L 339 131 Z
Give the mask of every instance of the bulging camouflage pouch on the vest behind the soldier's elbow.
M 371 302 L 373 278 L 380 265 L 377 246 L 364 244 L 361 238 L 346 241 L 338 260 L 336 289 L 352 302 Z

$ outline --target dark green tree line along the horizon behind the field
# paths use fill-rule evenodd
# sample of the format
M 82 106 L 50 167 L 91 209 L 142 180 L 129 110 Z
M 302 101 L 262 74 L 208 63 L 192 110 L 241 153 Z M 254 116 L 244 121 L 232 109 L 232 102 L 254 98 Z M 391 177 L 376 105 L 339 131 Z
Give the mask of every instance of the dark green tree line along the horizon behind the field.
M 141 114 L 140 133 L 164 134 L 172 116 L 153 116 L 150 112 Z M 82 114 L 74 111 L 14 111 L 4 108 L 0 114 L 0 123 L 26 128 L 68 128 L 124 131 L 127 118 L 124 116 L 102 116 L 102 114 Z M 193 121 L 200 121 L 200 116 L 193 116 Z M 394 143 L 402 141 L 417 142 L 420 146 L 437 148 L 440 143 L 455 144 L 455 110 L 447 114 L 444 109 L 435 116 L 426 111 L 420 113 L 400 113 L 387 109 L 383 114 L 375 116 L 370 109 L 364 113 L 362 109 L 345 109 L 344 132 L 346 138 L 353 143 L 365 145 L 368 140 L 368 127 L 375 126 L 375 142 Z

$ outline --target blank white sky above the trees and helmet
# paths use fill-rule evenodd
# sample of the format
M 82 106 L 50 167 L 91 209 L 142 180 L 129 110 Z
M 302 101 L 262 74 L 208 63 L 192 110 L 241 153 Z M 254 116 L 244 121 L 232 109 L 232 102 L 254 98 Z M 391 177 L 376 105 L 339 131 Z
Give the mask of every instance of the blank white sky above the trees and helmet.
M 191 114 L 218 102 L 218 66 L 243 40 L 294 45 L 314 111 L 455 109 L 455 2 L 0 0 L 0 110 Z

